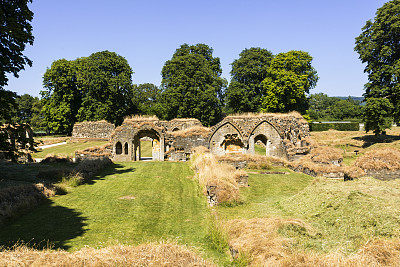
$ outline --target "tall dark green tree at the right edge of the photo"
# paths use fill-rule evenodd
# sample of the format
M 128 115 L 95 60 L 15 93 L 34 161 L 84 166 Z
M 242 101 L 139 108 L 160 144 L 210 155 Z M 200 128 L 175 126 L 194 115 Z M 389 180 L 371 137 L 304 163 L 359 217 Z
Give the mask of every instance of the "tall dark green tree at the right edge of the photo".
M 385 3 L 376 12 L 374 21 L 367 21 L 362 33 L 356 38 L 355 51 L 366 63 L 364 72 L 368 74 L 368 83 L 365 84 L 364 97 L 385 98 L 394 107 L 393 118 L 400 120 L 400 0 Z M 386 100 L 382 100 L 386 103 Z M 376 102 L 376 100 L 372 101 Z M 382 103 L 383 103 L 382 102 Z M 386 107 L 387 105 L 369 105 L 370 107 Z M 384 110 L 382 111 L 385 112 Z M 365 113 L 366 122 L 372 121 L 373 113 Z M 376 134 L 383 132 L 386 121 L 374 124 Z M 372 126 L 371 126 L 372 127 Z

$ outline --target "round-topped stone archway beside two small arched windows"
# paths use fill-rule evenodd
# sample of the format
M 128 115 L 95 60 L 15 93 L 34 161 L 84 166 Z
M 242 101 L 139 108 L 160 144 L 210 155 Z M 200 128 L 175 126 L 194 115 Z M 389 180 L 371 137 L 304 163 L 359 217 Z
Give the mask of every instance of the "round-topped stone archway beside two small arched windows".
M 163 132 L 157 127 L 151 125 L 143 125 L 133 136 L 133 160 L 138 161 L 141 158 L 140 155 L 140 139 L 142 137 L 150 137 L 152 141 L 152 160 L 164 160 L 165 153 L 165 137 Z

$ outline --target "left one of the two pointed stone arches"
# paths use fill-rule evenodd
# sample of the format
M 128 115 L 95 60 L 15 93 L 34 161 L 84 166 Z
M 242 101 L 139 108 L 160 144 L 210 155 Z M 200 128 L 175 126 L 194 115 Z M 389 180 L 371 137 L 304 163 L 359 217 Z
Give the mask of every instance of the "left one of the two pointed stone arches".
M 215 155 L 245 153 L 247 144 L 239 128 L 230 121 L 222 121 L 213 127 L 208 138 L 210 151 Z

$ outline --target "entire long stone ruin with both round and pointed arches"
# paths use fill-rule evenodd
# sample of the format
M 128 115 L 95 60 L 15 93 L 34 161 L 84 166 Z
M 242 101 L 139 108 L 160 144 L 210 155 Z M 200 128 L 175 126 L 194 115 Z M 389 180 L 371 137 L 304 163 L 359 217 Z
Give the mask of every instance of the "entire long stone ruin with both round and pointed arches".
M 140 160 L 140 140 L 147 137 L 152 140 L 152 160 L 186 161 L 198 146 L 215 155 L 254 154 L 256 143 L 263 145 L 266 156 L 295 160 L 310 151 L 309 135 L 308 123 L 294 112 L 228 116 L 211 128 L 203 127 L 197 119 L 132 117 L 110 135 L 111 158 Z

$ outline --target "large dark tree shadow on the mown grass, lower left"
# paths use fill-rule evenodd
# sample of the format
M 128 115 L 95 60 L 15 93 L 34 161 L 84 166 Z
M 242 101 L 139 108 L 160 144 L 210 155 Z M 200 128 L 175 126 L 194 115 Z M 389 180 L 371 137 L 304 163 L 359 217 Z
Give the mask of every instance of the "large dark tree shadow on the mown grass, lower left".
M 86 231 L 85 220 L 81 213 L 45 200 L 14 223 L 0 228 L 0 246 L 25 244 L 37 249 L 49 246 L 68 249 L 66 241 Z

